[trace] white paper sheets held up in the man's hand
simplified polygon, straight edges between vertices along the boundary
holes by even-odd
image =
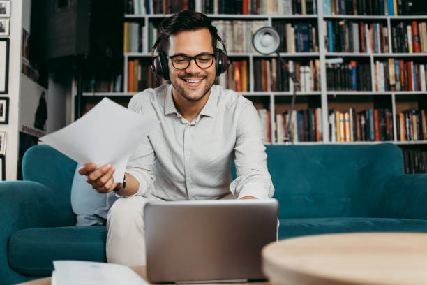
[[[81,164],[93,162],[98,168],[110,163],[114,182],[123,182],[130,154],[157,125],[157,119],[103,98],[73,124],[40,140]]]

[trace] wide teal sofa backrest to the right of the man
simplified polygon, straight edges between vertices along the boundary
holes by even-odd
[[[384,182],[403,174],[392,144],[269,145],[266,152],[280,218],[369,217]]]

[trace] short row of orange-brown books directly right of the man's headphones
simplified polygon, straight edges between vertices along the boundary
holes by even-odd
[[[216,80],[216,84],[224,89],[232,89],[236,92],[248,92],[248,61],[234,60],[225,73]]]

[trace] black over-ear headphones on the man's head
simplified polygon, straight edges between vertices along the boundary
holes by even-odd
[[[216,76],[220,75],[227,71],[230,62],[227,57],[227,50],[225,49],[225,43],[221,38],[216,35],[215,38],[223,45],[223,50],[215,47],[215,72]],[[160,43],[160,37],[157,39],[156,43],[154,43],[153,47],[151,47],[151,56],[153,57],[153,61],[151,63],[151,69],[157,75],[163,77],[165,80],[169,80],[169,66],[167,65],[167,57],[166,53],[163,50],[158,50],[158,56],[154,56],[154,51],[158,47]]]

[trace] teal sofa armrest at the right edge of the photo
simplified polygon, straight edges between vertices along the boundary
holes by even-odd
[[[427,219],[427,174],[396,175],[384,187],[384,215]]]

